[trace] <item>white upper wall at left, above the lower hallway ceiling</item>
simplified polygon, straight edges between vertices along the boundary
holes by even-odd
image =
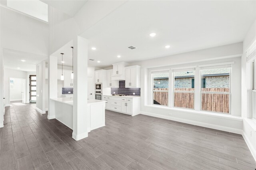
[[[1,47],[48,56],[48,24],[0,7]]]

